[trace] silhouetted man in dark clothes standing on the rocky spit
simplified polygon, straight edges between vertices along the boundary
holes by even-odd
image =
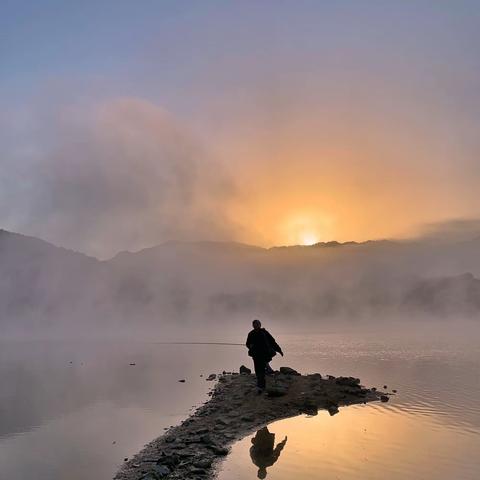
[[[283,357],[283,352],[270,333],[262,328],[260,320],[254,320],[252,326],[253,330],[248,334],[246,345],[248,354],[253,358],[258,393],[260,394],[265,390],[265,373],[268,363],[277,352]]]

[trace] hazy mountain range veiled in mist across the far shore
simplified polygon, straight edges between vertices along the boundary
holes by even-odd
[[[265,249],[170,242],[107,261],[0,230],[0,328],[46,335],[480,312],[480,240]],[[469,273],[466,273],[469,272]]]

